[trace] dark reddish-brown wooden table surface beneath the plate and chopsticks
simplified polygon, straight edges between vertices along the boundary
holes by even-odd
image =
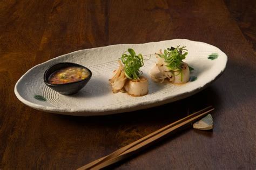
[[[0,168],[75,169],[213,105],[214,130],[186,130],[118,169],[256,168],[255,1],[1,1]],[[200,93],[103,117],[45,113],[22,104],[16,81],[59,55],[120,43],[186,38],[218,46],[226,71]]]

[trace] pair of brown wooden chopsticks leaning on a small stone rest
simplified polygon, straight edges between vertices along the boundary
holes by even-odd
[[[212,108],[212,106],[208,106],[203,110],[190,114],[183,119],[180,119],[178,121],[175,121],[172,124],[169,124],[163,128],[160,128],[159,130],[149,135],[146,135],[146,137],[143,137],[137,141],[134,141],[131,144],[126,145],[103,158],[92,161],[89,164],[84,165],[78,169],[79,170],[80,169],[101,169],[109,165],[112,165],[120,160],[130,157],[134,153],[137,153],[140,149],[148,146],[149,144],[153,144],[153,142],[156,142],[158,139],[165,137],[167,134],[170,134],[171,132],[174,133],[180,130],[180,128],[182,127],[191,125],[193,122],[204,117],[206,114],[208,114],[213,110],[214,108]]]

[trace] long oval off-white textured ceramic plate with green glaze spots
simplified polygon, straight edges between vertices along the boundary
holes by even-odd
[[[188,55],[185,62],[194,68],[191,77],[197,77],[196,80],[183,85],[154,83],[150,78],[150,70],[157,59],[152,55],[141,68],[149,79],[149,94],[131,97],[127,93],[112,93],[108,80],[113,70],[118,68],[117,59],[128,48],[142,53],[146,59],[159,49],[177,45],[186,46]],[[212,53],[217,53],[218,58],[208,59]],[[44,84],[44,71],[59,62],[81,64],[92,71],[92,78],[84,89],[72,96],[64,96]],[[223,73],[226,63],[227,56],[217,47],[187,39],[97,47],[71,52],[32,67],[17,81],[15,94],[25,105],[45,112],[83,116],[130,112],[180,100],[203,90]],[[35,95],[45,97],[46,101],[35,99]]]

